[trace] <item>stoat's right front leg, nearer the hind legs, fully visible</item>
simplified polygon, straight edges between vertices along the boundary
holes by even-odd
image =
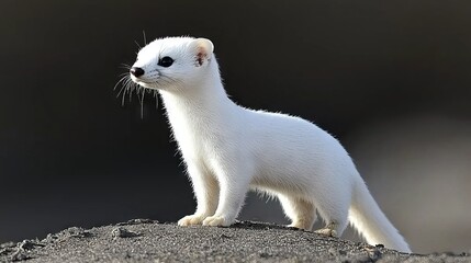
[[[203,226],[227,227],[235,222],[248,191],[250,182],[248,174],[236,174],[236,172],[231,171],[221,171],[217,173],[221,188],[217,210],[214,216],[204,219]]]

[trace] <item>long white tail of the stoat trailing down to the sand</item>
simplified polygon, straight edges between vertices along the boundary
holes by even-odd
[[[408,244],[381,211],[363,180],[358,178],[356,181],[349,210],[351,225],[370,244],[381,243],[386,248],[411,253]]]

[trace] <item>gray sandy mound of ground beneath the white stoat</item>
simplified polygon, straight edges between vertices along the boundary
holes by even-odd
[[[471,262],[469,254],[404,254],[271,224],[178,227],[134,219],[0,244],[0,262]]]

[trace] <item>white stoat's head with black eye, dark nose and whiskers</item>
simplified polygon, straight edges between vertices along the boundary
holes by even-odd
[[[143,47],[130,69],[131,79],[147,89],[178,90],[202,81],[213,57],[206,38],[166,37]]]

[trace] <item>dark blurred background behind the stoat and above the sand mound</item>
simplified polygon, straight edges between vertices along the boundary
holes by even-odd
[[[113,85],[147,39],[215,44],[237,103],[313,121],[416,252],[471,248],[471,2],[0,1],[0,242],[195,207],[159,103]],[[243,219],[287,222],[250,195]],[[348,237],[350,236],[347,233]]]

